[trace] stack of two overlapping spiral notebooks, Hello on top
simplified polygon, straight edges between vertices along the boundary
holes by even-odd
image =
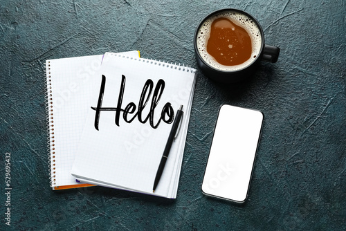
[[[100,185],[176,198],[195,70],[137,50],[46,61],[51,187]],[[154,179],[177,109],[183,117]]]

